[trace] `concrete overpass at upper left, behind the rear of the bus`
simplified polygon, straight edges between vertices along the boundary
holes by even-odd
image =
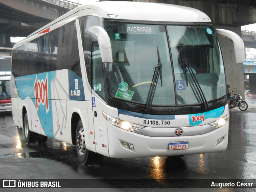
[[[10,36],[28,36],[78,4],[68,0],[0,0],[0,47],[10,47]]]

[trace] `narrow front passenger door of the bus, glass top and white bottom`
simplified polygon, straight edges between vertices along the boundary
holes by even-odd
[[[94,121],[94,138],[96,152],[105,156],[108,154],[107,121],[102,115],[106,112],[104,69],[98,43],[92,47],[92,113]]]

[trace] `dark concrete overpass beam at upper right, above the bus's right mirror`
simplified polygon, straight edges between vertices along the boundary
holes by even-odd
[[[207,14],[215,25],[243,26],[256,23],[256,2],[244,0],[134,0],[159,2],[196,8]],[[254,2],[254,3],[253,3]],[[254,6],[253,6],[254,5]]]

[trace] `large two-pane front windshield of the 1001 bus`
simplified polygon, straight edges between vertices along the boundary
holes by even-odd
[[[152,105],[202,103],[198,87],[207,101],[226,94],[222,55],[211,25],[106,22],[105,29],[112,45],[108,72],[113,98],[146,104],[159,58],[161,80]]]

